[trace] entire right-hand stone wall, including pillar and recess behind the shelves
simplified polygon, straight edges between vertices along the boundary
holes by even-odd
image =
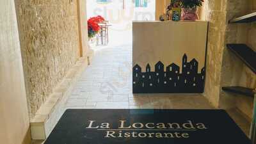
[[[243,43],[255,49],[255,23],[228,24],[234,17],[255,12],[255,3],[255,0],[208,0],[204,7],[205,19],[209,20],[205,97],[216,108],[238,108],[248,117],[252,117],[252,99],[223,92],[221,87],[256,88],[255,74],[226,47]]]

